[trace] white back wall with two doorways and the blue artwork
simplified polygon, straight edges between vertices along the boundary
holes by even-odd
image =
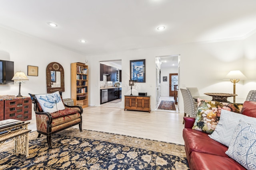
[[[130,87],[128,86],[130,60],[146,59],[146,83],[137,83],[132,93],[148,92],[148,95],[152,96],[152,110],[155,109],[156,56],[180,55],[180,87],[198,87],[202,95],[206,92],[233,93],[233,84],[229,80],[223,80],[223,78],[230,70],[244,72],[247,69],[244,65],[244,41],[252,44],[255,39],[256,37],[253,36],[252,40],[248,42],[237,40],[217,43],[191,43],[88,56],[90,64],[94,66],[91,70],[94,75],[90,79],[91,90],[94,94],[90,94],[90,105],[98,106],[100,104],[99,61],[106,59],[122,59],[122,97],[130,94]],[[256,62],[256,59],[253,61]],[[255,67],[251,67],[251,69],[256,71]],[[246,72],[244,73],[246,74]],[[252,83],[255,82],[255,79],[248,81]],[[243,80],[236,84],[238,98],[246,98],[249,90],[244,88]],[[178,95],[180,111],[183,112],[182,96],[180,93]],[[124,102],[122,102],[122,107],[124,108]]]

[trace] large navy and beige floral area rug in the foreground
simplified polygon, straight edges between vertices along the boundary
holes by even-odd
[[[13,142],[0,148],[5,170],[189,170],[183,145],[69,128],[52,136],[29,133],[29,156],[16,154]]]

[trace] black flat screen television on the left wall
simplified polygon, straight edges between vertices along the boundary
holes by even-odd
[[[0,84],[14,84],[14,62],[0,60]]]

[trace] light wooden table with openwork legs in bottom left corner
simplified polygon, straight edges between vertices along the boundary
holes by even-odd
[[[13,139],[15,152],[28,156],[28,133],[31,131],[28,123],[14,119],[0,121],[0,147],[5,141]]]

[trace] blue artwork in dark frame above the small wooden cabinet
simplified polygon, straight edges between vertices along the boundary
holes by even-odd
[[[146,59],[130,61],[130,80],[146,82]]]

